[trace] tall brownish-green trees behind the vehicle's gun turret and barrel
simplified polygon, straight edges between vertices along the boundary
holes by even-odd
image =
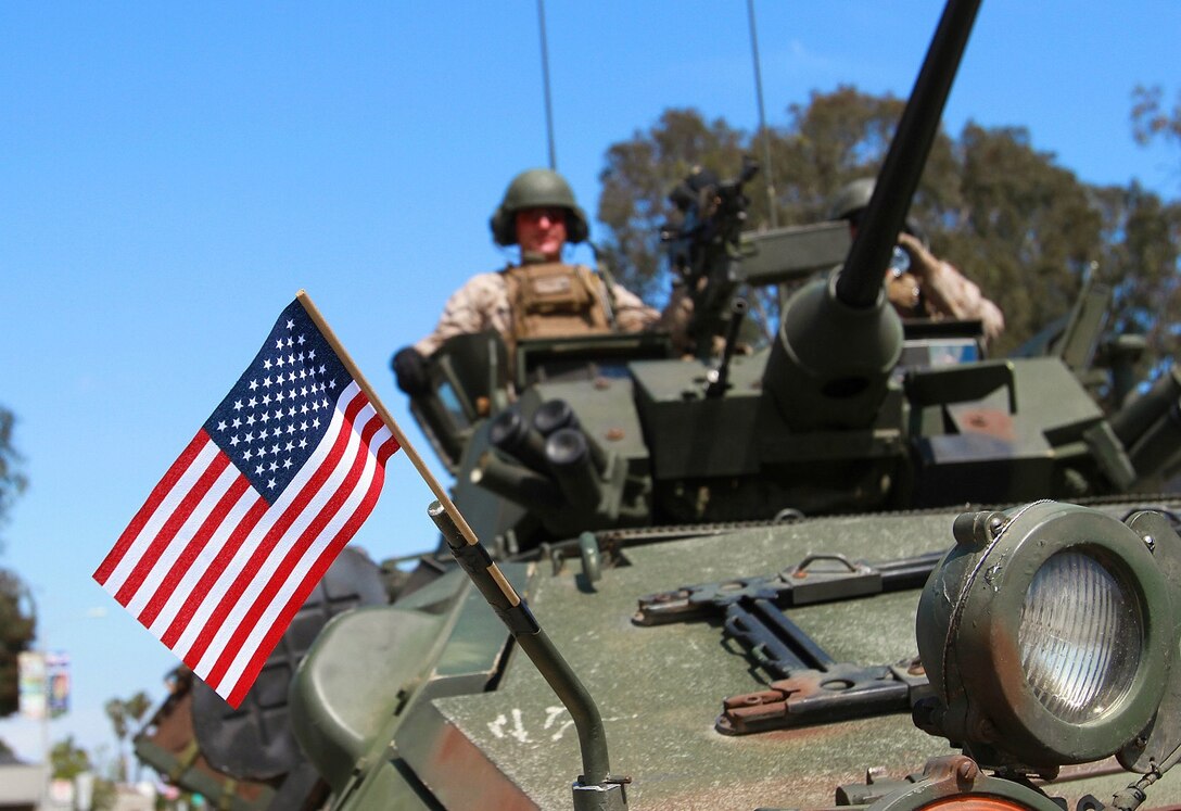
[[[774,177],[764,166],[746,187],[746,228],[770,222],[768,183],[779,225],[827,220],[842,185],[876,175],[902,109],[900,99],[842,86],[814,92],[807,105],[789,107],[785,125],[755,136],[723,119],[706,122],[694,110],[665,111],[647,131],[607,151],[598,215],[607,225],[603,253],[611,267],[620,281],[659,302],[668,282],[658,229],[673,218],[666,195],[693,165],[737,176],[744,153],[762,158],[763,137],[770,138]],[[1169,120],[1181,126],[1176,111]],[[1035,150],[1023,127],[968,123],[954,139],[937,136],[909,215],[934,253],[1005,313],[994,354],[1068,313],[1094,273],[1114,290],[1113,334],[1147,334],[1147,369],[1176,353],[1181,332],[1177,321],[1161,318],[1181,313],[1177,208],[1135,184],[1083,183],[1053,155]]]

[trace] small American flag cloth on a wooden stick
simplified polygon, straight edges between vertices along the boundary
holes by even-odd
[[[397,450],[296,299],[94,580],[237,707]]]

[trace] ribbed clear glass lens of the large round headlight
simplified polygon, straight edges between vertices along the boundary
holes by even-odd
[[[1140,602],[1091,555],[1057,552],[1025,595],[1018,649],[1046,709],[1070,724],[1097,718],[1123,698],[1140,666]]]

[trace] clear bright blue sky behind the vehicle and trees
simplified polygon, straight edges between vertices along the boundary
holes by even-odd
[[[31,479],[0,565],[32,586],[40,642],[73,659],[74,708],[52,739],[111,746],[103,702],[162,695],[172,655],[90,575],[298,289],[433,463],[389,358],[507,259],[488,216],[548,155],[536,8],[0,5],[0,404]],[[783,124],[813,90],[906,96],[941,5],[755,9],[768,119]],[[664,109],[756,126],[742,0],[546,13],[557,164],[589,212],[608,145]],[[1128,116],[1137,84],[1172,100],[1179,32],[1176,0],[985,2],[945,126],[1023,125],[1084,181],[1175,198],[1181,156],[1137,146]],[[354,544],[426,549],[430,499],[394,457]],[[2,720],[0,738],[39,757],[35,724]]]

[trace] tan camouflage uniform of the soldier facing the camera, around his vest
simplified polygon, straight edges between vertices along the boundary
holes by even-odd
[[[575,267],[581,268],[580,274],[592,273],[589,268],[583,266]],[[522,272],[528,270],[529,266],[509,266],[504,270],[482,273],[469,279],[448,299],[435,331],[415,344],[415,348],[423,355],[430,355],[452,335],[476,333],[488,328],[496,329],[504,339],[505,346],[513,347],[516,339],[524,338],[524,335],[517,334],[518,320],[510,301],[508,274],[522,274]],[[602,279],[596,275],[594,283],[598,287],[596,295],[602,302],[607,288]],[[612,284],[611,292],[611,301],[607,303],[614,312],[615,327],[619,332],[640,332],[660,318],[655,309],[645,305],[634,293],[624,287]],[[570,334],[590,332],[606,332],[606,329],[588,327],[572,331]]]

